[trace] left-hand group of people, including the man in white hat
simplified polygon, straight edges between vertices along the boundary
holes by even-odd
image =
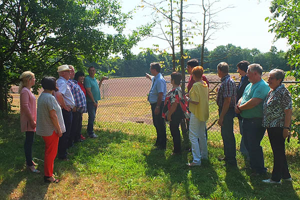
[[[72,65],[58,66],[59,78],[44,76],[41,79],[43,92],[38,96],[37,105],[31,87],[35,77],[31,71],[23,72],[19,79],[20,123],[21,131],[25,132],[24,152],[27,167],[38,173],[32,161],[32,143],[34,132],[42,136],[45,143],[44,181],[59,180],[53,175],[53,163],[57,157],[68,160],[67,149],[73,143],[85,139],[81,134],[82,113],[88,112],[87,133],[91,138],[97,137],[93,132],[97,101],[100,100],[99,87],[106,77],[99,82],[95,78],[95,68],[88,67],[88,75],[82,71],[75,73]]]

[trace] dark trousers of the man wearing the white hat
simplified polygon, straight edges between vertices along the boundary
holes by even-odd
[[[67,111],[65,109],[61,109],[62,117],[65,126],[65,132],[62,133],[62,136],[59,137],[58,141],[58,149],[57,154],[59,159],[66,158],[66,149],[68,147],[68,138],[71,131],[71,124],[72,124],[72,110]]]

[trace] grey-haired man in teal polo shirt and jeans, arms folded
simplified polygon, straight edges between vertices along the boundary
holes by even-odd
[[[262,67],[259,64],[250,64],[247,69],[249,84],[245,87],[241,98],[235,106],[235,112],[240,113],[244,144],[249,152],[250,167],[253,174],[264,174],[263,152],[260,141],[265,128],[262,127],[263,101],[270,90],[268,84],[261,79]]]

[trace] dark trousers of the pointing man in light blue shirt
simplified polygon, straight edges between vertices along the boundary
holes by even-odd
[[[166,147],[166,133],[165,133],[165,121],[164,118],[162,118],[162,108],[163,108],[164,101],[161,101],[159,106],[159,113],[156,115],[154,113],[156,103],[151,103],[151,110],[152,110],[152,119],[153,119],[153,125],[156,129],[156,142],[155,144],[159,148],[165,148]]]

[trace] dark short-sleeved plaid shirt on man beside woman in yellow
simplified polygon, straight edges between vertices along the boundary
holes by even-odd
[[[235,106],[236,85],[230,75],[227,74],[221,78],[221,85],[217,90],[216,104],[219,107],[223,106],[224,98],[231,97],[229,107]]]

